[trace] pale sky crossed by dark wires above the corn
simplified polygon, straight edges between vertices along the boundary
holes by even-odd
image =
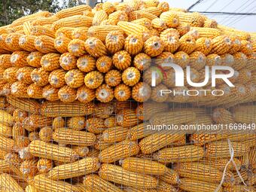
[[[108,0],[118,2],[120,0]],[[171,7],[187,9],[197,0],[160,0],[168,2]],[[62,3],[62,0],[59,0]],[[83,1],[85,2],[85,0]],[[98,0],[100,2],[100,0]],[[103,0],[105,2],[105,0]],[[256,13],[256,0],[203,0],[190,11],[221,11],[235,13]],[[256,15],[233,16],[233,15],[207,15],[224,26],[230,26],[247,32],[256,32]]]

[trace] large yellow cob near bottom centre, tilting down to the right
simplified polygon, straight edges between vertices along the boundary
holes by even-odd
[[[111,164],[102,164],[99,169],[99,176],[108,181],[125,184],[130,187],[154,188],[158,184],[157,178],[126,171],[120,166]]]

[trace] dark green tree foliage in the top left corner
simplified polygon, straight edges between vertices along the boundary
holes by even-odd
[[[2,0],[0,1],[0,26],[5,26],[25,15],[38,11],[56,13],[61,8],[58,0]]]

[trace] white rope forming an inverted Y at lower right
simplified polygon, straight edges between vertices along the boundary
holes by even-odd
[[[234,150],[233,150],[233,147],[232,147],[232,144],[230,142],[230,139],[227,139],[227,143],[228,143],[228,147],[229,147],[229,150],[230,150],[230,160],[227,162],[226,166],[225,166],[225,169],[224,169],[224,172],[223,172],[223,175],[222,175],[222,178],[221,178],[221,183],[218,185],[218,187],[215,189],[215,192],[218,192],[220,189],[221,189],[221,186],[222,184],[224,183],[224,179],[225,179],[225,175],[226,175],[226,171],[227,171],[227,166],[232,162],[233,163],[233,166],[235,166],[236,168],[236,172],[237,172],[237,175],[239,176],[239,178],[241,179],[242,183],[247,186],[245,184],[245,181],[243,180],[242,178],[242,175],[241,173],[239,172],[239,169],[237,168],[236,166],[236,163],[235,161],[233,160],[233,156],[234,156]],[[247,189],[244,189],[245,191],[248,191]]]

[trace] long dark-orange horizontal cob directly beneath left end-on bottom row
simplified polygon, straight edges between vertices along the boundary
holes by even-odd
[[[41,114],[47,117],[76,117],[93,113],[93,107],[93,103],[44,102],[41,105]]]

